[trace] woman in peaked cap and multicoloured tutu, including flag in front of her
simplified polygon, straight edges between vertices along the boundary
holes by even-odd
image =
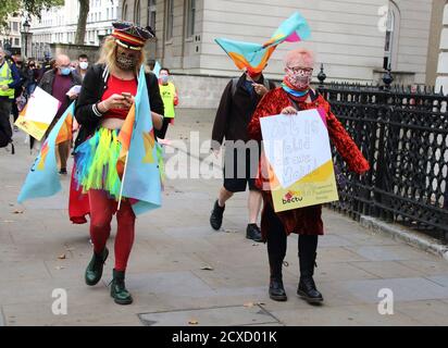
[[[99,62],[86,73],[75,109],[80,128],[69,210],[74,223],[87,222],[85,215],[90,214],[94,256],[85,272],[89,286],[101,278],[116,213],[111,296],[116,303],[128,304],[133,298],[124,278],[136,213],[160,206],[160,172],[154,160],[160,152],[152,125],[162,127],[164,108],[158,79],[144,66],[142,48],[154,37],[152,29],[125,22],[115,22]]]

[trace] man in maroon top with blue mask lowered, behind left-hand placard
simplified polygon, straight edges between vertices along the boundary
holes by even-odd
[[[51,128],[55,125],[58,120],[62,116],[65,109],[69,108],[73,99],[77,98],[77,95],[67,96],[69,90],[75,86],[80,85],[82,80],[77,74],[74,74],[70,67],[70,59],[65,54],[59,54],[55,59],[54,69],[46,72],[39,83],[39,87],[46,92],[57,98],[61,105],[58,113],[47,130],[47,135],[51,132]],[[66,162],[69,158],[70,140],[58,145],[59,157],[61,159],[60,174],[67,174]]]

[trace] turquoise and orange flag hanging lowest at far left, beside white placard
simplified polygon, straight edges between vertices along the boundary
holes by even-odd
[[[73,117],[74,108],[75,102],[72,102],[45,140],[22,186],[17,198],[18,203],[30,198],[49,197],[61,190],[55,159],[55,145],[65,140],[65,137],[71,136],[67,134],[64,123],[67,117]]]

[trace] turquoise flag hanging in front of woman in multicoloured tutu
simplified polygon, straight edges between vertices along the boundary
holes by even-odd
[[[129,112],[127,117],[130,119],[126,121],[130,121],[133,116]],[[122,132],[126,130],[126,121]],[[132,134],[128,146],[125,144],[126,134]],[[133,129],[132,132],[123,132],[123,137],[119,135],[119,140],[122,141],[122,152],[128,149],[122,183],[122,196],[130,199],[135,214],[159,208],[162,203],[162,159],[160,145],[154,137],[144,67],[140,69],[138,76]],[[123,153],[120,157],[123,158]]]

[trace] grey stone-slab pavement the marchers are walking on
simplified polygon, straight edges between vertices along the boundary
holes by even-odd
[[[181,110],[167,137],[189,142],[195,130],[202,141],[212,120],[211,110]],[[57,196],[16,203],[36,153],[22,133],[14,138],[15,156],[0,149],[0,326],[448,325],[446,260],[326,209],[315,270],[324,303],[296,296],[296,236],[284,269],[288,301],[272,301],[266,247],[245,238],[247,194],[228,201],[222,231],[209,225],[219,178],[171,178],[163,207],[137,219],[126,276],[134,303],[117,306],[108,289],[113,252],[102,281],[84,284],[92,248],[88,225],[69,222],[69,177]],[[169,148],[167,158],[187,156]]]

